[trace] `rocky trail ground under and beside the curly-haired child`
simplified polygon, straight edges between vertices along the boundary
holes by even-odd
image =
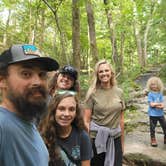
[[[144,88],[145,82],[151,75],[154,75],[154,72],[148,76],[147,74],[145,74],[145,77],[142,76],[138,83],[141,83]],[[128,117],[125,118],[125,126],[128,132],[125,135],[123,166],[166,166],[166,145],[163,143],[162,129],[158,124],[156,128],[158,147],[151,147],[147,96],[138,96],[132,99],[132,105],[137,109],[131,114],[128,113]],[[164,98],[166,108],[166,96]]]

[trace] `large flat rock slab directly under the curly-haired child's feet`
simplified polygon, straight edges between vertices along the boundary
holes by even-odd
[[[163,134],[156,134],[158,147],[151,147],[148,132],[133,131],[125,137],[124,159],[134,163],[160,163],[166,166],[166,145],[163,143]],[[140,156],[142,156],[140,158]],[[143,165],[143,164],[142,164]],[[146,164],[151,166],[151,164]],[[130,166],[130,165],[129,165]],[[157,165],[155,165],[157,166]]]

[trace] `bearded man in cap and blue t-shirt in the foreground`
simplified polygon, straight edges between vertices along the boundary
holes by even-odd
[[[47,71],[58,68],[34,45],[13,45],[0,55],[0,165],[48,165],[34,122],[47,109]]]

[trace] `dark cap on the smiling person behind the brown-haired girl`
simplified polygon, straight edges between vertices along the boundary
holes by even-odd
[[[71,66],[71,65],[65,65],[59,70],[59,73],[62,74],[68,74],[70,77],[74,78],[74,80],[77,80],[78,72],[77,70]]]

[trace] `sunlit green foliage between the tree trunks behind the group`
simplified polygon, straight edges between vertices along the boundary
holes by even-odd
[[[34,44],[46,54],[56,58],[61,64],[66,63],[67,59],[72,63],[72,1],[50,0],[47,2],[54,11],[57,11],[60,30],[54,13],[43,1],[0,1],[0,52],[13,43],[32,42],[30,39],[34,37]],[[103,1],[91,0],[91,3],[94,11],[98,58],[108,59],[112,63],[111,30],[113,30],[117,54],[123,56],[123,66],[121,67],[124,74],[121,76],[120,83],[126,81],[124,87],[127,88],[129,83],[129,86],[137,88],[131,82],[139,73],[144,72],[144,69],[139,66],[134,24],[137,23],[139,37],[143,41],[146,24],[151,17],[147,36],[147,65],[164,63],[166,61],[166,12],[164,12],[166,2],[164,0],[109,0],[108,4],[105,5]],[[81,70],[85,70],[94,68],[90,52],[86,1],[80,0],[78,7],[80,9],[80,64]],[[106,9],[109,10],[112,27],[108,25]],[[153,9],[155,10],[151,15]],[[7,18],[7,11],[11,11],[9,18]],[[9,19],[8,25],[7,19]],[[5,32],[7,33],[6,43],[4,43]],[[61,34],[64,37],[66,55],[62,55]]]

